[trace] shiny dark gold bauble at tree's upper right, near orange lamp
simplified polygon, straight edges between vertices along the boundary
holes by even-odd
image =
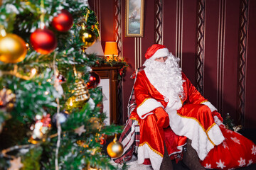
[[[82,29],[80,30],[79,35],[82,42],[85,43],[84,45],[82,45],[82,50],[85,50],[87,49],[87,47],[92,46],[96,41],[96,36],[92,32],[92,30],[87,29],[84,26],[82,26]]]

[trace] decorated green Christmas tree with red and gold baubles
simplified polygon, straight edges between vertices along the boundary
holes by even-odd
[[[87,1],[5,0],[0,6],[0,169],[116,169]],[[118,153],[117,153],[118,154]]]

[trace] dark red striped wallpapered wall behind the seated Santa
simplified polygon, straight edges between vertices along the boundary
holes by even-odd
[[[123,81],[123,121],[127,119],[127,102],[132,90],[133,80],[129,76],[134,69],[144,62],[146,49],[156,42],[156,1],[144,0],[144,37],[130,38],[124,36],[125,28],[125,1],[124,0],[90,0],[90,7],[97,14],[100,13],[100,27],[102,46],[105,41],[115,40],[114,12],[117,1],[121,8],[122,28],[122,54],[131,65]],[[230,113],[236,124],[245,128],[256,128],[256,1],[252,0],[162,0],[162,26],[163,44],[177,55],[181,52],[181,67],[183,72],[196,86],[197,67],[197,27],[198,27],[198,3],[205,3],[204,21],[204,56],[203,56],[203,95],[213,103],[223,115]],[[241,18],[242,4],[248,15]],[[181,16],[178,16],[181,13]],[[242,21],[247,27],[242,27]],[[178,23],[181,22],[181,23]],[[242,27],[242,28],[241,28]],[[178,29],[178,30],[177,30]],[[241,38],[241,33],[244,34]],[[242,40],[246,41],[242,41]],[[137,43],[141,42],[141,44]],[[241,54],[240,45],[245,45]],[[181,45],[179,51],[177,45]],[[141,55],[135,55],[142,50]],[[245,60],[245,71],[242,73],[240,58]],[[137,63],[137,59],[142,63]],[[240,74],[240,75],[239,75]],[[242,87],[242,89],[241,89]],[[241,101],[241,93],[244,99]],[[243,110],[240,109],[242,104]]]

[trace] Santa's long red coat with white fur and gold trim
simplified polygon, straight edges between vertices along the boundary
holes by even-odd
[[[134,84],[137,108],[130,118],[139,121],[139,164],[144,159],[150,159],[153,169],[159,169],[164,154],[164,141],[169,155],[173,155],[182,151],[188,137],[201,160],[206,158],[213,147],[223,142],[223,133],[219,127],[222,122],[220,114],[201,96],[185,74],[182,74],[182,78],[183,98],[180,101],[169,101],[169,98],[154,88],[144,71],[137,74]],[[167,128],[169,125],[171,130]],[[209,159],[202,164],[208,166]]]

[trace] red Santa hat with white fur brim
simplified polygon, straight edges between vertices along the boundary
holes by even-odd
[[[146,50],[146,59],[155,60],[159,57],[166,57],[169,55],[169,50],[164,45],[154,44]]]

